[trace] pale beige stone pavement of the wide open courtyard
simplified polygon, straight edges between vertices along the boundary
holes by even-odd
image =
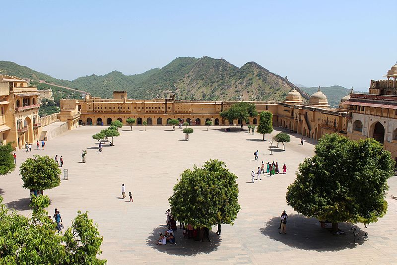
[[[64,156],[69,180],[55,189],[45,191],[52,201],[48,211],[61,211],[64,225],[70,226],[77,210],[89,211],[103,236],[101,258],[109,264],[397,264],[397,178],[389,181],[389,211],[377,223],[365,228],[362,224],[340,224],[346,235],[333,236],[322,229],[318,220],[305,218],[285,201],[287,186],[293,182],[299,162],[314,154],[314,141],[299,145],[300,136],[291,134],[286,151],[274,149],[261,134],[241,132],[234,127],[225,133],[220,127],[194,127],[190,140],[179,129],[168,126],[134,126],[119,129],[115,146],[104,145],[97,152],[97,141],[91,135],[105,127],[86,126],[47,142],[45,150],[17,152],[19,166],[34,154]],[[223,127],[224,128],[224,127]],[[274,131],[273,134],[277,133]],[[266,138],[270,138],[266,135]],[[87,149],[87,163],[80,163]],[[254,151],[259,160],[254,161]],[[224,161],[238,176],[241,211],[233,226],[223,225],[222,235],[214,231],[211,242],[194,242],[176,233],[177,244],[154,244],[159,232],[165,231],[168,198],[183,170],[216,158]],[[251,181],[261,161],[287,164],[286,175],[262,181]],[[22,214],[31,213],[29,191],[22,188],[19,169],[0,178],[0,195],[8,207]],[[134,202],[121,199],[121,184],[127,195],[132,191]],[[287,234],[278,234],[279,215],[289,214]],[[178,226],[179,228],[179,226]],[[351,228],[355,228],[353,231]],[[364,236],[365,232],[368,237]]]

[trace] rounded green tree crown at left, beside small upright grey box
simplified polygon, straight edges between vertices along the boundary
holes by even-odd
[[[54,159],[48,155],[35,155],[28,158],[19,167],[23,188],[43,191],[58,187],[61,184],[61,170]]]

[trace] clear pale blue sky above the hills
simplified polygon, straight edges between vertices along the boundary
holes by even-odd
[[[0,0],[0,60],[71,80],[223,57],[306,86],[366,91],[397,61],[396,3]]]

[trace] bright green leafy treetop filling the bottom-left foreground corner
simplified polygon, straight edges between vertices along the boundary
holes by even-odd
[[[10,212],[2,201],[0,196],[0,264],[106,264],[96,258],[103,239],[86,214],[77,212],[62,236],[45,210],[48,196],[32,198],[32,217]]]

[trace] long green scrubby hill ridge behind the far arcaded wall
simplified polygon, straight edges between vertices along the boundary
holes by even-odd
[[[0,70],[32,82],[45,80],[103,98],[112,97],[114,90],[126,90],[130,98],[136,99],[161,98],[175,93],[177,99],[186,100],[282,100],[291,90],[283,77],[255,62],[239,68],[223,59],[210,57],[180,57],[162,68],[141,74],[124,75],[112,71],[73,81],[56,79],[12,62],[0,61]]]

